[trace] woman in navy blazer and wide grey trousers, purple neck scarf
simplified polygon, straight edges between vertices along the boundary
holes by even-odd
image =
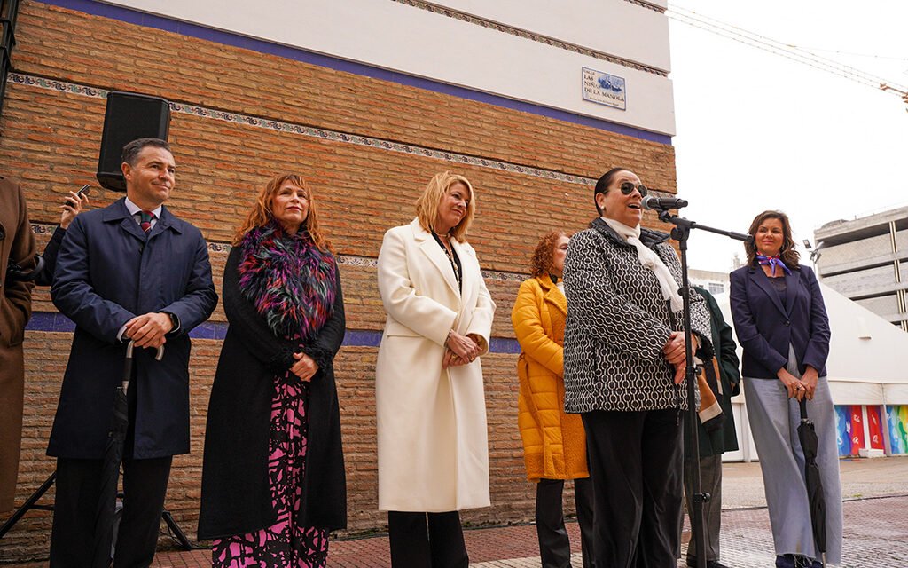
[[[747,414],[773,527],[777,567],[818,566],[798,440],[799,402],[816,426],[826,502],[826,560],[842,556],[842,491],[833,400],[826,381],[829,319],[814,271],[798,264],[788,217],[758,214],[747,265],[731,274],[735,334],[744,347]]]

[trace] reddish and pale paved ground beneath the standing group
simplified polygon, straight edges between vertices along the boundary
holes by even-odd
[[[908,457],[845,460],[843,568],[908,568]],[[722,562],[731,568],[772,568],[775,563],[762,477],[756,463],[726,463],[723,483]],[[582,566],[577,523],[568,523],[573,566]],[[465,531],[473,568],[538,568],[536,527],[517,524]],[[687,527],[682,541],[689,538]],[[686,545],[683,547],[686,548]],[[683,556],[683,551],[682,551]],[[211,551],[159,552],[155,568],[211,565]],[[683,563],[679,563],[683,566]],[[5,564],[39,568],[46,563]],[[387,568],[388,537],[331,542],[328,568]]]

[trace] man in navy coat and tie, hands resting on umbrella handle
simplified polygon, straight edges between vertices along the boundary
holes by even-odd
[[[188,334],[218,300],[202,234],[163,207],[176,171],[170,147],[156,138],[126,144],[122,169],[126,197],[75,218],[51,288],[54,305],[76,325],[47,447],[57,458],[54,568],[92,557],[104,447],[130,339],[136,349],[114,566],[152,562],[173,455],[189,452]]]

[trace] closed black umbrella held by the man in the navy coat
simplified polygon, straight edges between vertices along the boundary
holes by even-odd
[[[94,562],[95,568],[110,568],[111,545],[114,540],[114,518],[116,517],[117,484],[120,481],[120,463],[123,462],[123,443],[129,427],[129,403],[126,393],[133,378],[133,341],[126,345],[126,359],[123,363],[123,384],[116,387],[114,417],[104,448],[104,467],[101,470],[101,493],[94,515]],[[155,355],[157,361],[164,356],[163,345]]]

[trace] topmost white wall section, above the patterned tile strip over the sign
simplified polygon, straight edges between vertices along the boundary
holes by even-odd
[[[668,18],[625,0],[433,0],[529,32],[665,71]]]

